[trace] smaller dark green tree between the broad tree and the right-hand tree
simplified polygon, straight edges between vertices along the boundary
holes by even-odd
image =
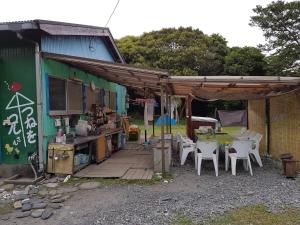
[[[224,71],[228,75],[265,75],[266,61],[261,51],[254,47],[233,47],[225,57]]]

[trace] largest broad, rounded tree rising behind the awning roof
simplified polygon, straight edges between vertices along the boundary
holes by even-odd
[[[167,28],[117,41],[129,64],[166,69],[173,75],[218,75],[224,70],[227,42],[191,27]]]

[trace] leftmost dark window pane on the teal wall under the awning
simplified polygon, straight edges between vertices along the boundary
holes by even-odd
[[[50,115],[65,114],[66,111],[66,80],[49,76]]]

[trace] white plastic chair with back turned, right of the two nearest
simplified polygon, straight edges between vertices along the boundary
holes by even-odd
[[[231,172],[232,175],[236,175],[236,161],[238,159],[244,160],[244,163],[249,167],[250,174],[253,176],[252,173],[252,166],[250,161],[250,151],[252,149],[252,141],[233,141],[231,148],[234,148],[236,153],[229,153],[229,157],[231,160]],[[245,164],[244,164],[245,165]]]

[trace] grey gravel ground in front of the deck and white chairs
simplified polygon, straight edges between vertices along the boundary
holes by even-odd
[[[201,176],[196,175],[192,164],[172,167],[174,180],[169,183],[80,190],[48,220],[11,216],[0,224],[161,225],[169,224],[179,212],[203,223],[230,209],[253,204],[265,204],[270,211],[283,205],[300,208],[300,179],[282,177],[271,161],[265,160],[263,168],[254,165],[253,177],[241,168],[232,176],[222,166],[219,177],[215,177],[210,163],[204,166]]]

